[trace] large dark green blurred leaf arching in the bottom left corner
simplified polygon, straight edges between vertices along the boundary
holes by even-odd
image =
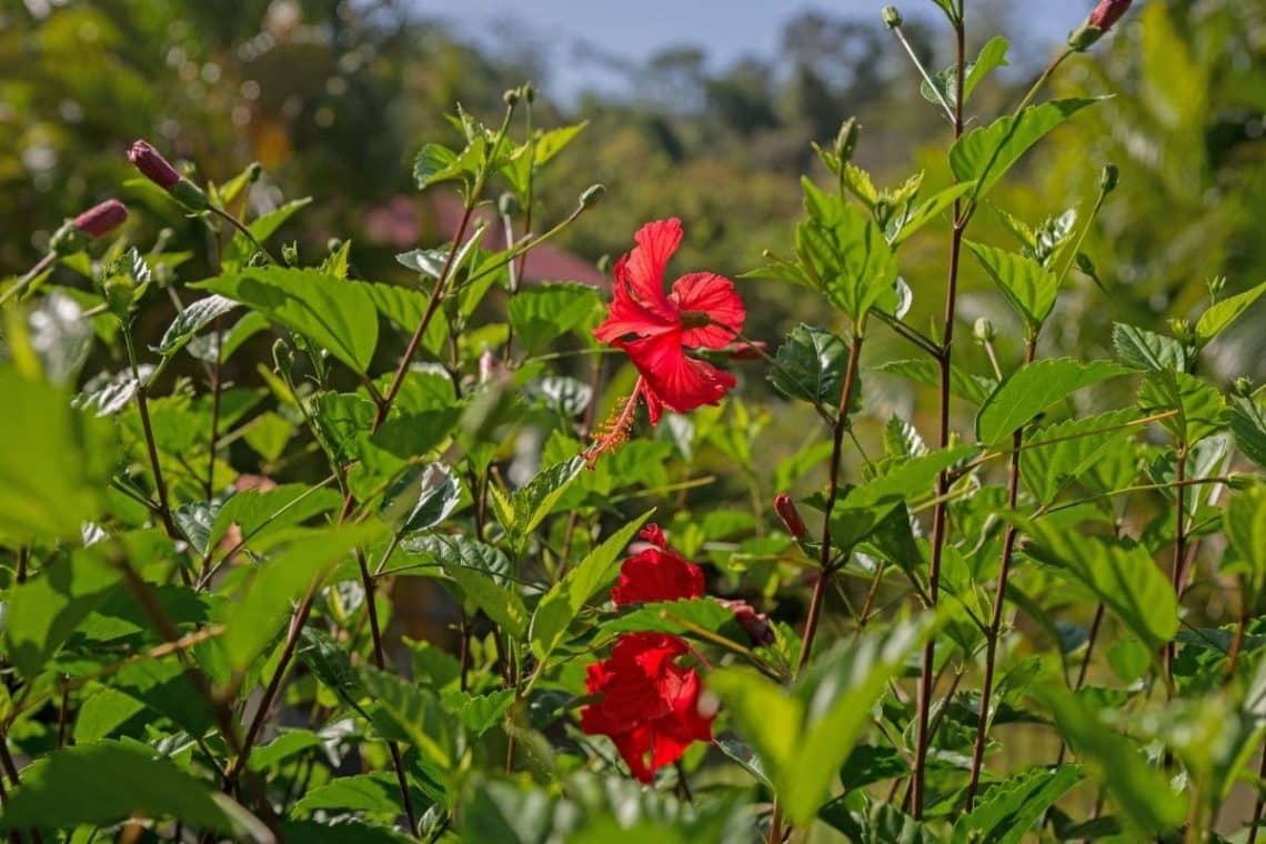
[[[0,829],[106,826],[142,816],[230,833],[227,806],[233,806],[228,797],[170,760],[100,742],[56,750],[28,766],[22,786],[5,801]]]

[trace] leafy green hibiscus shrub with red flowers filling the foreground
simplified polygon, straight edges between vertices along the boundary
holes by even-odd
[[[137,142],[132,216],[0,287],[10,840],[1255,840],[1266,404],[1201,352],[1266,286],[1060,357],[1065,297],[1113,307],[1081,247],[1117,173],[1046,221],[990,195],[1095,106],[1046,84],[1129,3],[994,119],[1006,44],[936,5],[944,185],[876,189],[849,120],[738,283],[667,282],[677,219],[609,295],[527,283],[603,197],[542,190],[582,127],[528,86],[422,148],[462,214],[395,283],[280,242],[306,200],[261,213],[257,166]],[[1014,333],[967,334],[970,273]],[[751,337],[785,282],[822,324]]]

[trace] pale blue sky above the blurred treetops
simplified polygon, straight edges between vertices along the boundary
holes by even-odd
[[[1091,0],[1022,3],[1032,9],[1034,29],[1052,39],[1062,38],[1091,5]],[[563,99],[587,85],[606,84],[592,76],[592,63],[577,61],[573,47],[581,42],[632,61],[663,47],[698,44],[718,67],[744,54],[774,54],[782,23],[799,11],[877,16],[881,5],[880,0],[413,0],[418,14],[444,19],[463,34],[509,32],[517,43],[547,51],[551,92]],[[908,14],[936,11],[929,0],[905,0],[901,8]]]

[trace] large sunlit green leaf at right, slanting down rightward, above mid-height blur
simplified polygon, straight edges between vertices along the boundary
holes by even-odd
[[[1094,592],[1153,653],[1174,639],[1179,629],[1177,597],[1147,548],[1084,535],[1050,519],[1004,518],[1028,535],[1024,553]]]

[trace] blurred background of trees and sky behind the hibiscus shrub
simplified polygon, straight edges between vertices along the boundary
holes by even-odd
[[[141,242],[161,227],[192,235],[125,185],[134,175],[123,151],[147,137],[209,178],[260,161],[256,211],[284,196],[315,200],[284,239],[319,251],[351,237],[361,275],[399,276],[396,252],[446,234],[446,189],[422,197],[411,183],[417,149],[453,140],[444,115],[456,102],[495,120],[501,92],[533,80],[541,124],[589,120],[542,186],[543,223],[586,185],[609,189],[568,230],[570,253],[587,268],[627,249],[642,221],[675,214],[687,229],[680,267],[737,275],[762,249],[786,248],[798,176],[822,175],[810,142],[828,140],[848,115],[863,125],[858,161],[877,182],[917,170],[931,186],[947,182],[936,149],[948,129],[919,97],[879,5],[0,0],[0,273],[27,268],[65,216],[108,195],[143,209],[130,224]],[[948,63],[933,5],[905,5],[915,49]],[[975,46],[996,34],[1013,43],[1010,67],[974,102],[977,123],[1014,101],[1090,5],[971,0]],[[1108,353],[1114,320],[1163,328],[1189,315],[1210,278],[1225,276],[1234,292],[1266,277],[1266,0],[1134,5],[1055,85],[1114,97],[1031,156],[996,196],[1036,224],[1087,205],[1104,163],[1122,170],[1086,245],[1108,296],[1077,280],[1044,339],[1065,353]],[[975,237],[1004,242],[991,227],[996,216],[982,214]],[[917,323],[939,309],[942,239],[932,227],[905,252]],[[1005,329],[979,270],[966,273],[963,320],[987,314]],[[803,291],[743,283],[758,302],[757,337],[818,315]],[[1206,364],[1260,380],[1262,328],[1257,310]]]

